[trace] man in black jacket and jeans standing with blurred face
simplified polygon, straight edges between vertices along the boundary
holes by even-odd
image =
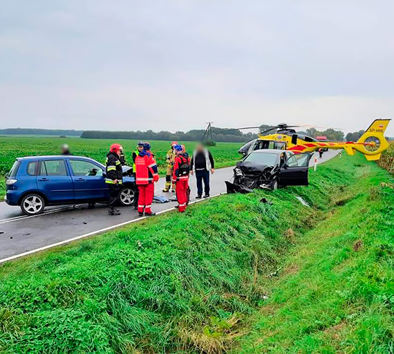
[[[209,172],[214,174],[215,163],[210,151],[202,144],[198,144],[194,150],[193,157],[190,162],[190,173],[196,173],[197,181],[197,196],[199,199],[203,196],[203,181],[204,181],[204,198],[209,197]]]

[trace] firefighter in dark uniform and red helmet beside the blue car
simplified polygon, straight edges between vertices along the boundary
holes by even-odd
[[[113,144],[106,156],[105,183],[109,185],[109,215],[120,215],[120,211],[115,208],[115,203],[118,201],[119,185],[122,185],[123,171],[120,162],[122,151],[122,145]]]

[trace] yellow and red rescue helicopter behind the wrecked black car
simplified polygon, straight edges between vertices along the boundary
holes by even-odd
[[[260,149],[282,149],[292,151],[296,154],[312,153],[320,148],[344,149],[349,155],[354,155],[355,151],[359,151],[367,160],[379,160],[382,152],[389,147],[386,138],[384,138],[384,132],[390,120],[391,119],[374,120],[357,142],[319,141],[310,136],[297,133],[297,131],[294,130],[294,128],[302,126],[281,123],[259,133],[259,138],[247,142],[238,150],[238,153],[246,156],[248,153]],[[256,128],[259,127],[244,127],[238,128],[237,130]]]

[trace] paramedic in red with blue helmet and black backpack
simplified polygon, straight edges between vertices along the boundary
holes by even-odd
[[[174,147],[176,158],[173,165],[173,180],[176,181],[176,198],[178,199],[179,212],[185,212],[187,206],[187,192],[189,189],[190,158],[185,152],[185,147]]]

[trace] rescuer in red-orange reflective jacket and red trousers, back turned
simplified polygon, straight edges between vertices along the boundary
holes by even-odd
[[[135,158],[135,183],[138,185],[138,214],[140,216],[156,215],[152,212],[154,183],[159,180],[158,165],[153,158],[151,145],[144,143],[144,149]]]

